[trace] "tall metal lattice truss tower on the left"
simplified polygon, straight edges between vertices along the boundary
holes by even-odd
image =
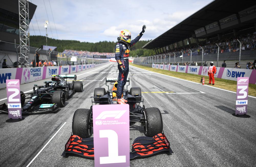
[[[19,41],[20,41],[20,64],[29,64],[29,12],[28,1],[19,0]]]

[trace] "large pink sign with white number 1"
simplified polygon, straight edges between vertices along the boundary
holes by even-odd
[[[130,166],[129,105],[93,105],[94,164]]]

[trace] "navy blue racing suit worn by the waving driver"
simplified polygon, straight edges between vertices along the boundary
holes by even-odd
[[[129,52],[130,47],[133,46],[136,42],[140,40],[142,37],[142,33],[140,33],[135,39],[131,41],[130,44],[124,41],[118,41],[115,46],[115,59],[118,63],[118,84],[117,84],[117,93],[116,96],[118,99],[122,98],[122,94],[124,91],[124,86],[126,84],[126,79],[129,73]]]

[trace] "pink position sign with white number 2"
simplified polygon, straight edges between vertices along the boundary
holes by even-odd
[[[22,119],[19,85],[18,79],[6,80],[8,117],[10,119]]]

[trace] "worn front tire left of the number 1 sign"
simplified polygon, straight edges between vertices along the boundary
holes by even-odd
[[[89,109],[77,109],[73,115],[72,133],[81,138],[91,136],[92,127],[90,126],[90,119],[92,118],[92,111]]]

